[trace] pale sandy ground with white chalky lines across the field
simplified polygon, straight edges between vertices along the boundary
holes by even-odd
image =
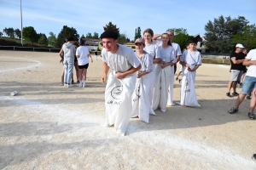
[[[236,100],[225,96],[228,66],[197,71],[201,108],[174,105],[148,124],[131,119],[123,137],[100,125],[102,60],[90,63],[86,88],[61,87],[58,62],[55,53],[0,51],[0,169],[256,169],[249,100],[227,113]]]

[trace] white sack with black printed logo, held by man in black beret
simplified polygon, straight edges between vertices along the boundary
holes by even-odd
[[[131,117],[131,94],[134,91],[137,74],[133,73],[122,79],[115,77],[112,71],[108,75],[105,91],[106,122],[105,126],[112,126],[117,133],[125,135]]]

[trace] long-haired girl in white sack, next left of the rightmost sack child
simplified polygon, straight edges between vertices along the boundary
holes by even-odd
[[[161,39],[162,45],[158,48],[160,51],[160,62],[155,67],[152,108],[156,110],[160,107],[160,111],[166,112],[168,88],[171,83],[171,78],[174,77],[173,65],[176,63],[176,57],[175,49],[172,48],[168,34],[163,33]]]

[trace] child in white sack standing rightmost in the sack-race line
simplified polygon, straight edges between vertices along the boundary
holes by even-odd
[[[195,94],[195,73],[201,65],[201,54],[196,50],[197,39],[191,38],[189,49],[183,52],[180,64],[183,65],[183,79],[180,105],[200,107]]]

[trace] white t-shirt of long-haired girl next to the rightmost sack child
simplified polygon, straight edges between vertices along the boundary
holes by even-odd
[[[172,48],[172,46],[169,46],[168,48],[163,48],[160,46],[158,50],[160,51],[161,60],[165,59],[166,63],[176,63],[175,50]]]

